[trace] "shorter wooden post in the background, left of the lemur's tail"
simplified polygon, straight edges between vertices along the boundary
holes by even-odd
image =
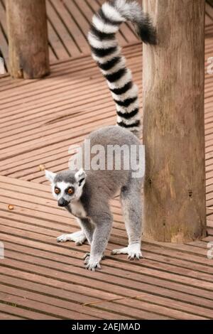
[[[6,0],[9,71],[12,77],[48,75],[48,31],[45,0]]]

